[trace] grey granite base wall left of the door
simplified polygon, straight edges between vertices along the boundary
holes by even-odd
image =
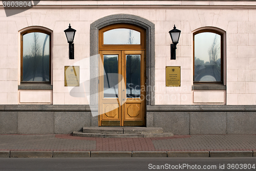
[[[91,125],[89,105],[6,105],[0,134],[72,134]]]

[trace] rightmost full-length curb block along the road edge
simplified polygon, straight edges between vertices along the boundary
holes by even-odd
[[[210,151],[210,157],[252,157],[253,151]]]

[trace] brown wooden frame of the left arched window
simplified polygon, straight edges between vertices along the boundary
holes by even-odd
[[[49,81],[23,81],[23,36],[28,33],[45,33],[49,35]],[[52,75],[52,34],[46,30],[41,29],[30,29],[25,30],[20,33],[20,83],[51,83],[51,75]]]

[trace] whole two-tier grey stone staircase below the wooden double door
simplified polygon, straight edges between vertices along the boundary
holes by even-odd
[[[82,132],[73,132],[73,136],[97,138],[149,138],[173,137],[173,133],[163,133],[161,127],[83,127]]]

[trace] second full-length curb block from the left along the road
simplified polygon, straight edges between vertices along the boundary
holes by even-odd
[[[69,151],[69,152],[55,152],[53,151],[52,157],[58,158],[65,158],[65,157],[91,157],[91,152],[76,152],[76,151]]]

